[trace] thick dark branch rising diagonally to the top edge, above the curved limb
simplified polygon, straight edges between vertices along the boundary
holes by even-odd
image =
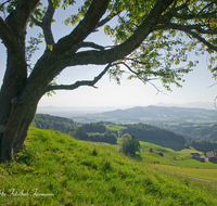
[[[66,53],[71,48],[81,42],[97,27],[100,18],[105,13],[110,0],[93,0],[85,18],[68,35],[59,40],[53,47],[56,54]]]

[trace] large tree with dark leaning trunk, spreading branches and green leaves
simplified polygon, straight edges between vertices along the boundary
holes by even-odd
[[[7,48],[7,69],[0,91],[0,160],[13,159],[13,154],[22,147],[37,104],[47,92],[94,87],[106,73],[118,81],[125,72],[130,74],[129,79],[143,82],[161,79],[169,89],[170,82],[180,86],[182,74],[195,66],[195,62],[188,60],[191,51],[197,55],[207,52],[208,67],[215,75],[216,0],[84,0],[82,3],[76,14],[65,20],[66,25],[74,26],[72,31],[55,41],[51,27],[55,10],[75,7],[75,0],[0,0],[0,38]],[[39,39],[31,38],[30,47],[26,46],[28,25],[41,28],[40,37],[47,44],[30,73],[28,60]],[[86,40],[100,27],[114,38],[113,46]],[[186,66],[177,67],[181,62]],[[52,83],[66,67],[91,64],[104,65],[93,80]]]

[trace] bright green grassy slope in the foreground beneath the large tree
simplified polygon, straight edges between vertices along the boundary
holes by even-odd
[[[117,145],[30,128],[16,163],[0,164],[0,205],[217,204],[215,183],[159,170],[145,156],[156,154],[148,153],[145,144],[142,150],[144,154],[125,156]]]

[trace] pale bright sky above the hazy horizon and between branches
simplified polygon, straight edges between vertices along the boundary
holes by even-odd
[[[73,26],[66,27],[62,23],[68,14],[68,11],[56,10],[54,16],[56,23],[53,23],[52,25],[55,41],[69,34],[73,29]],[[37,34],[40,31],[39,27],[33,29],[28,28],[27,39],[30,36],[37,37]],[[112,39],[103,36],[102,31],[103,30],[101,29],[99,33],[94,33],[88,40],[111,46]],[[40,50],[37,51],[31,59],[33,64],[41,55],[44,47],[44,43],[40,44]],[[190,59],[194,60],[195,56],[191,54]],[[0,83],[2,83],[5,70],[5,48],[0,43]],[[199,56],[199,61],[200,64],[194,67],[193,72],[184,76],[186,82],[182,83],[182,88],[171,86],[173,92],[166,91],[157,80],[152,82],[161,88],[164,91],[163,93],[157,93],[156,89],[151,83],[148,82],[144,85],[138,79],[126,80],[123,78],[120,80],[120,86],[118,86],[115,80],[110,80],[108,75],[105,75],[95,85],[98,89],[80,87],[73,91],[56,91],[56,94],[53,94],[52,96],[43,95],[38,106],[127,108],[132,106],[156,105],[158,103],[177,105],[189,102],[202,102],[204,107],[208,104],[209,108],[215,110],[213,102],[217,95],[217,86],[213,85],[215,85],[216,81],[212,78],[212,73],[207,70],[207,56]],[[61,73],[56,82],[72,83],[76,80],[93,79],[103,68],[103,66],[95,65],[69,67]],[[201,105],[201,107],[203,107],[203,105]]]

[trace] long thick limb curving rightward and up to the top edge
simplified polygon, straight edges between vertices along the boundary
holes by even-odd
[[[152,31],[152,27],[161,14],[173,3],[173,0],[158,0],[152,9],[149,16],[142,22],[138,29],[124,43],[104,51],[84,51],[73,55],[65,56],[66,66],[85,65],[85,64],[106,64],[106,62],[115,62],[123,60]]]

